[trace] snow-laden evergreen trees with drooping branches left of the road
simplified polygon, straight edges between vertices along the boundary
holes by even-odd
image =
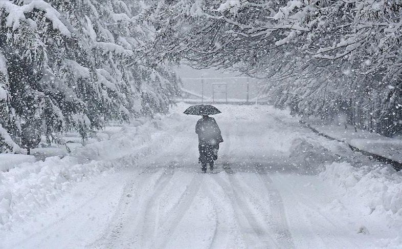
[[[85,139],[108,120],[167,110],[180,80],[142,52],[153,39],[152,27],[137,20],[144,8],[0,1],[0,124],[14,142],[25,129],[48,142],[67,130]]]

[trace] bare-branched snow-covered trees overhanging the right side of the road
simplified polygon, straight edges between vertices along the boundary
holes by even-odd
[[[265,79],[275,105],[386,135],[402,130],[400,1],[161,1],[155,60]]]

